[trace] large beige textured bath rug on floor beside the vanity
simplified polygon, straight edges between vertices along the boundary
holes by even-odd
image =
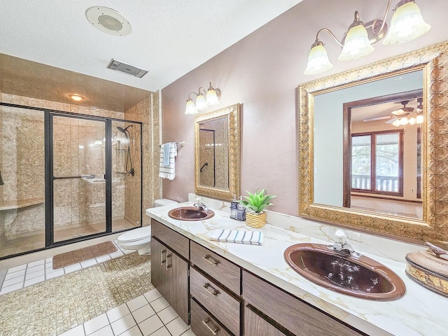
[[[0,295],[0,335],[59,335],[153,288],[151,255],[130,253]]]

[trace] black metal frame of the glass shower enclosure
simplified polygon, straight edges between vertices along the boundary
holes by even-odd
[[[34,111],[41,111],[44,113],[44,146],[45,146],[45,247],[44,248],[36,248],[34,250],[25,251],[21,253],[16,253],[13,255],[8,255],[6,257],[0,258],[0,260],[6,259],[6,258],[13,258],[18,255],[25,255],[28,253],[36,252],[36,251],[43,251],[48,248],[53,248],[56,246],[63,246],[67,244],[71,244],[78,241],[84,241],[96,237],[102,237],[107,236],[119,232],[124,232],[127,230],[132,229],[125,229],[125,230],[117,230],[115,232],[112,232],[112,144],[111,144],[111,138],[112,138],[112,122],[118,121],[123,123],[131,123],[132,125],[138,125],[140,128],[140,227],[143,224],[143,186],[144,186],[144,174],[143,174],[143,123],[140,121],[135,120],[126,120],[126,119],[119,119],[119,118],[109,118],[109,117],[102,117],[102,116],[91,116],[88,114],[81,114],[81,113],[73,113],[73,112],[66,112],[66,111],[58,111],[53,109],[45,109],[40,108],[36,106],[26,106],[26,105],[19,105],[19,104],[10,104],[10,103],[4,103],[0,102],[0,106],[9,106],[14,107],[18,109],[29,109]],[[95,120],[95,121],[101,121],[105,123],[105,134],[106,139],[109,139],[106,141],[106,148],[105,148],[105,162],[106,162],[106,231],[105,232],[99,232],[95,233],[93,235],[86,235],[81,237],[75,237],[73,239],[67,239],[62,241],[54,241],[54,214],[53,214],[53,148],[52,148],[52,117],[53,116],[62,116],[67,118],[79,118],[83,120]]]

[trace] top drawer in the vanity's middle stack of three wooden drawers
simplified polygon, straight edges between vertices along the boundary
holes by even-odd
[[[190,261],[237,295],[241,294],[241,269],[200,244],[191,242]]]

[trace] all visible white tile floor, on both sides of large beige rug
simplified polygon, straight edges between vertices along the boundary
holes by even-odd
[[[116,241],[114,241],[116,244]],[[35,283],[63,276],[100,262],[118,258],[133,251],[117,246],[118,251],[102,257],[85,260],[63,269],[52,269],[52,258],[11,267],[1,283],[0,295]],[[0,279],[1,282],[1,279]],[[180,316],[158,292],[150,290],[144,295],[115,307],[90,321],[68,330],[60,336],[195,336]]]

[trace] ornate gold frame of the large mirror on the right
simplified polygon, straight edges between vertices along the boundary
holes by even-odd
[[[398,73],[423,70],[423,219],[376,214],[314,202],[314,96]],[[358,69],[299,85],[297,89],[299,216],[398,239],[448,246],[448,41]]]

